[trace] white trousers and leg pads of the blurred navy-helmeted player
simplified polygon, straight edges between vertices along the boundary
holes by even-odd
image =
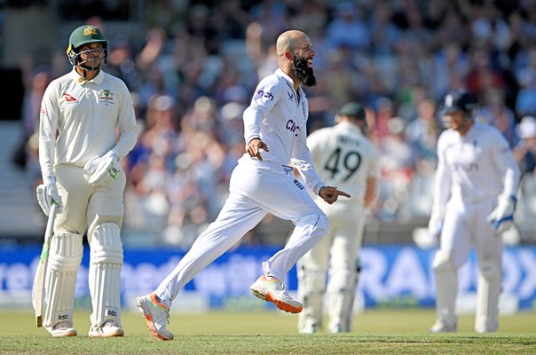
[[[475,248],[479,268],[476,330],[496,331],[502,281],[502,239],[486,217],[495,201],[461,204],[449,201],[441,233],[441,246],[432,267],[436,279],[437,320],[455,325],[458,271]]]

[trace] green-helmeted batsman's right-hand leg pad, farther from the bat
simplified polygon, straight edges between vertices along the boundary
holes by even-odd
[[[97,225],[91,235],[90,248],[91,327],[100,327],[108,319],[121,327],[122,242],[119,226],[114,223]]]

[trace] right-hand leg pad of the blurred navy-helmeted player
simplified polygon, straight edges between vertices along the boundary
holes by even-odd
[[[477,288],[475,331],[495,332],[499,327],[499,296],[501,295],[501,261],[483,261]]]

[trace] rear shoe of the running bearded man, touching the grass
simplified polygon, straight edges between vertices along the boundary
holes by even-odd
[[[138,297],[136,305],[141,315],[146,318],[147,327],[154,336],[162,340],[173,340],[175,335],[166,329],[169,323],[169,308],[161,304],[154,293]]]

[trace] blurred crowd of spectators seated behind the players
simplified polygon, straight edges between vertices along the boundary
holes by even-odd
[[[309,132],[333,124],[348,101],[367,106],[367,135],[382,154],[371,217],[428,217],[439,103],[451,89],[475,92],[480,118],[508,138],[525,175],[534,170],[536,0],[152,3],[144,31],[107,36],[105,71],[127,83],[139,125],[123,162],[125,231],[189,247],[216,217],[244,153],[241,114],[258,80],[277,67],[274,43],[289,28],[307,33],[317,53],[318,85],[305,88]],[[106,21],[88,23],[106,36]],[[46,67],[21,62],[27,169],[36,184],[39,105],[50,80],[70,70],[62,51]]]

